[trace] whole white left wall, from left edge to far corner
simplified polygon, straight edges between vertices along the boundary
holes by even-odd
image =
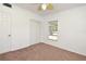
[[[25,9],[19,8],[15,4],[12,4],[12,5],[13,5],[12,9],[10,9],[0,4],[0,13],[1,13],[0,22],[2,23],[3,20],[5,20],[5,22],[9,23],[9,34],[4,31],[3,35],[4,34],[7,34],[7,36],[11,35],[11,38],[9,41],[5,41],[5,42],[0,41],[0,53],[25,48],[33,43],[39,42],[40,40],[39,38],[36,38],[36,39],[33,38],[33,37],[39,37],[40,36],[39,34],[37,35],[34,34],[35,36],[33,35],[30,39],[30,36],[32,36],[30,33],[36,31],[34,29],[32,30],[30,20],[40,21],[41,17]],[[3,14],[5,17],[2,17]],[[4,26],[1,28],[3,29]],[[9,38],[9,36],[7,38]]]

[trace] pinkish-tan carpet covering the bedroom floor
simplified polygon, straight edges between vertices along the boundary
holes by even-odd
[[[86,61],[86,56],[69,52],[46,43],[33,44],[28,48],[3,53],[2,61]]]

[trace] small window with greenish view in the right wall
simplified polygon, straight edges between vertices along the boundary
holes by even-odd
[[[58,40],[58,21],[49,22],[49,39]]]

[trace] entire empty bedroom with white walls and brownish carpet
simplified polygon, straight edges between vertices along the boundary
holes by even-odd
[[[86,61],[85,16],[86,3],[0,3],[0,60]]]

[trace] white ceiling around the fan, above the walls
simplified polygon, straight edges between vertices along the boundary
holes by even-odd
[[[64,10],[73,9],[81,5],[86,5],[86,3],[53,3],[53,10],[49,11],[38,11],[40,3],[16,3],[17,7],[29,10],[34,13],[37,13],[41,16],[58,13]]]

